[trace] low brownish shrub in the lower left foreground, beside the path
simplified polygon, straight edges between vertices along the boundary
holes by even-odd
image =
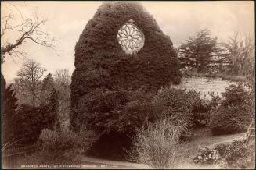
[[[38,150],[16,161],[19,165],[79,165],[81,154],[96,140],[92,131],[59,133],[44,129],[38,140]]]

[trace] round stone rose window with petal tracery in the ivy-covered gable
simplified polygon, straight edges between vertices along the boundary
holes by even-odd
[[[131,19],[118,30],[117,41],[125,53],[133,55],[143,48],[144,35]]]

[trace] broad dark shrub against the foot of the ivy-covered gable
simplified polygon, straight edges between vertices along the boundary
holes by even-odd
[[[146,92],[133,90],[93,90],[84,98],[79,117],[97,133],[124,133],[132,135],[135,129],[146,122],[150,114],[150,98]]]

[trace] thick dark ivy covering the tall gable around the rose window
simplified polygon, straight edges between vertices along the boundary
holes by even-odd
[[[117,41],[118,29],[129,19],[135,21],[145,36],[144,47],[135,55],[125,54]],[[76,128],[81,126],[76,124],[81,121],[78,118],[85,114],[81,112],[82,103],[85,104],[88,101],[85,98],[95,96],[97,91],[106,88],[109,92],[103,96],[118,94],[127,100],[120,94],[122,90],[116,92],[116,89],[137,90],[144,86],[148,90],[157,90],[167,86],[170,81],[180,81],[178,58],[170,37],[160,30],[156,20],[136,2],[104,2],[99,7],[75,46],[74,65],[70,122]],[[114,101],[116,106],[121,104],[118,102],[122,101]],[[113,104],[108,107],[112,107],[116,115],[121,114],[118,113],[120,109]],[[88,114],[94,116],[93,112]],[[121,119],[115,117],[111,121]]]

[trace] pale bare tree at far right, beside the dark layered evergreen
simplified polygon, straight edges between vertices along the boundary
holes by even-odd
[[[246,75],[254,66],[254,37],[252,35],[241,36],[238,32],[229,38],[228,43],[224,43],[229,51],[228,59],[230,62],[229,72],[233,74]]]

